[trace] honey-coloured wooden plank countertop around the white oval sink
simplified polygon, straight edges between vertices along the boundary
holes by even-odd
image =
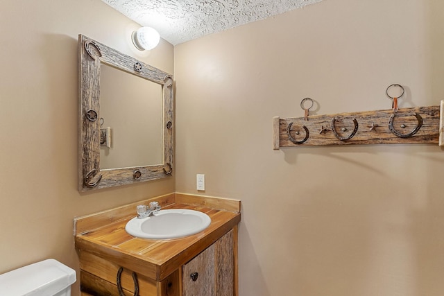
[[[205,206],[206,203],[191,205],[175,201],[162,206],[162,209],[202,211],[210,216],[210,226],[198,234],[185,238],[136,238],[125,231],[126,223],[135,217],[133,211],[132,214],[119,218],[119,220],[109,219],[110,221],[103,223],[103,226],[96,225],[97,227],[94,229],[75,233],[76,250],[80,256],[82,252],[94,254],[155,281],[162,281],[181,265],[212,245],[230,229],[237,232],[237,225],[241,220],[239,211],[213,209]],[[74,230],[76,232],[76,229]]]

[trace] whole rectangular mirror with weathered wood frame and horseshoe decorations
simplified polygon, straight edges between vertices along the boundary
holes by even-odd
[[[173,76],[78,36],[78,189],[169,177]]]

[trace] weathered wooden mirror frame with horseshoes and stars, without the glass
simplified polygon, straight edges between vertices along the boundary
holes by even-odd
[[[100,170],[101,63],[162,85],[162,164]],[[89,191],[171,176],[173,171],[173,76],[78,35],[78,190]],[[137,145],[137,143],[135,143]]]

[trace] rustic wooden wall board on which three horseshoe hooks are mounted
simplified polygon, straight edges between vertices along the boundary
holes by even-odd
[[[429,107],[411,107],[399,109],[393,119],[393,127],[401,134],[408,134],[418,121],[413,112],[422,116],[422,127],[413,134],[412,137],[400,138],[393,134],[388,128],[390,116],[393,110],[377,110],[368,112],[339,113],[329,115],[309,116],[305,121],[303,117],[279,119],[279,147],[302,147],[302,146],[326,146],[326,145],[365,145],[365,144],[400,144],[400,143],[438,143],[439,137],[439,119],[440,106]],[[336,118],[334,128],[340,137],[348,137],[354,129],[353,119],[357,120],[359,125],[354,137],[349,140],[341,141],[337,139],[332,131],[332,119]],[[274,125],[277,119],[273,119]],[[309,138],[304,143],[295,144],[289,140],[287,127],[290,123],[291,137],[300,141],[305,137],[305,130],[309,130]],[[404,128],[401,125],[405,125]],[[373,128],[372,128],[373,127]],[[345,129],[344,131],[341,129]],[[276,132],[276,128],[273,128]],[[322,131],[322,132],[321,132]],[[298,133],[298,134],[297,134]],[[275,142],[276,135],[273,134]],[[273,148],[277,148],[273,144]]]

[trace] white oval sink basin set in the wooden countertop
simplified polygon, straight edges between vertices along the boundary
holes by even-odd
[[[210,223],[210,216],[201,211],[162,209],[153,216],[129,220],[125,230],[139,238],[180,238],[201,232]]]

